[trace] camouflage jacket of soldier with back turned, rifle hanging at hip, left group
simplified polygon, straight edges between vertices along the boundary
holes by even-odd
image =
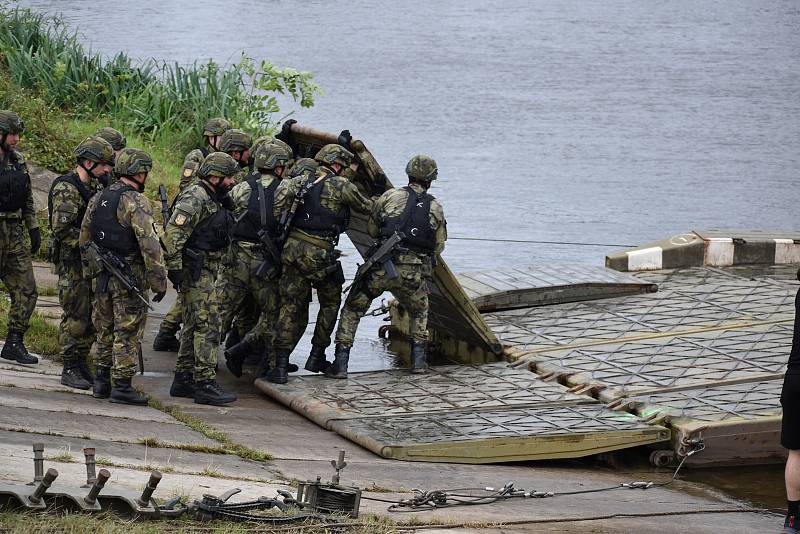
[[[116,182],[110,185],[110,188],[124,187],[122,182]],[[89,206],[86,208],[86,216],[83,218],[81,224],[80,244],[86,245],[91,239],[90,225],[92,224],[92,216],[94,215],[95,205],[97,204],[100,194],[96,193],[91,200]],[[131,228],[136,241],[139,243],[139,251],[141,252],[141,259],[144,260],[144,276],[147,285],[154,293],[166,291],[167,289],[167,270],[164,267],[164,256],[161,252],[161,245],[156,235],[155,223],[153,222],[153,208],[150,201],[143,194],[138,191],[126,191],[119,199],[119,206],[117,207],[117,221],[123,228]],[[139,255],[131,258],[133,263],[141,263]],[[139,269],[141,270],[141,265]]]

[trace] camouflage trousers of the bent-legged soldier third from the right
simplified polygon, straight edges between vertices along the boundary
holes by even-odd
[[[262,261],[255,247],[232,244],[217,278],[217,302],[223,335],[230,330],[236,317],[237,327],[246,328],[239,331],[241,338],[272,347],[278,319],[278,279],[267,280],[255,275]]]

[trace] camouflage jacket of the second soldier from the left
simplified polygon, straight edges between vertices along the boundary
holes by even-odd
[[[75,174],[75,172],[73,171],[71,174]],[[90,178],[88,183],[84,182],[83,185],[90,195],[94,195],[102,189],[100,183],[93,178]],[[52,230],[52,239],[58,243],[60,250],[56,261],[80,258],[78,238],[82,221],[79,221],[78,217],[86,208],[87,203],[73,184],[64,181],[53,187],[50,198],[53,204],[50,229]]]

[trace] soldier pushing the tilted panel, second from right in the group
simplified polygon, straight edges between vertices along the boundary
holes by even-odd
[[[280,281],[281,310],[276,332],[276,364],[268,380],[285,384],[289,355],[300,330],[302,308],[308,309],[311,288],[317,290],[319,312],[305,368],[325,369],[325,349],[331,344],[336,314],[342,299],[344,273],[335,249],[339,235],[347,229],[350,209],[369,213],[372,202],[355,185],[339,176],[353,161],[353,154],[339,145],[325,145],[314,159],[316,173],[284,181],[278,188],[276,210],[288,208],[292,228],[283,248]],[[300,193],[298,195],[298,192]],[[299,204],[295,200],[302,198]],[[291,205],[291,206],[290,206]],[[302,325],[305,327],[305,324]]]

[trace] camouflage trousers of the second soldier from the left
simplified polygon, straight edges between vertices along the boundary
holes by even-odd
[[[58,301],[64,310],[58,325],[58,343],[65,361],[86,359],[95,341],[92,324],[92,280],[83,276],[80,255],[61,261],[58,272]]]

